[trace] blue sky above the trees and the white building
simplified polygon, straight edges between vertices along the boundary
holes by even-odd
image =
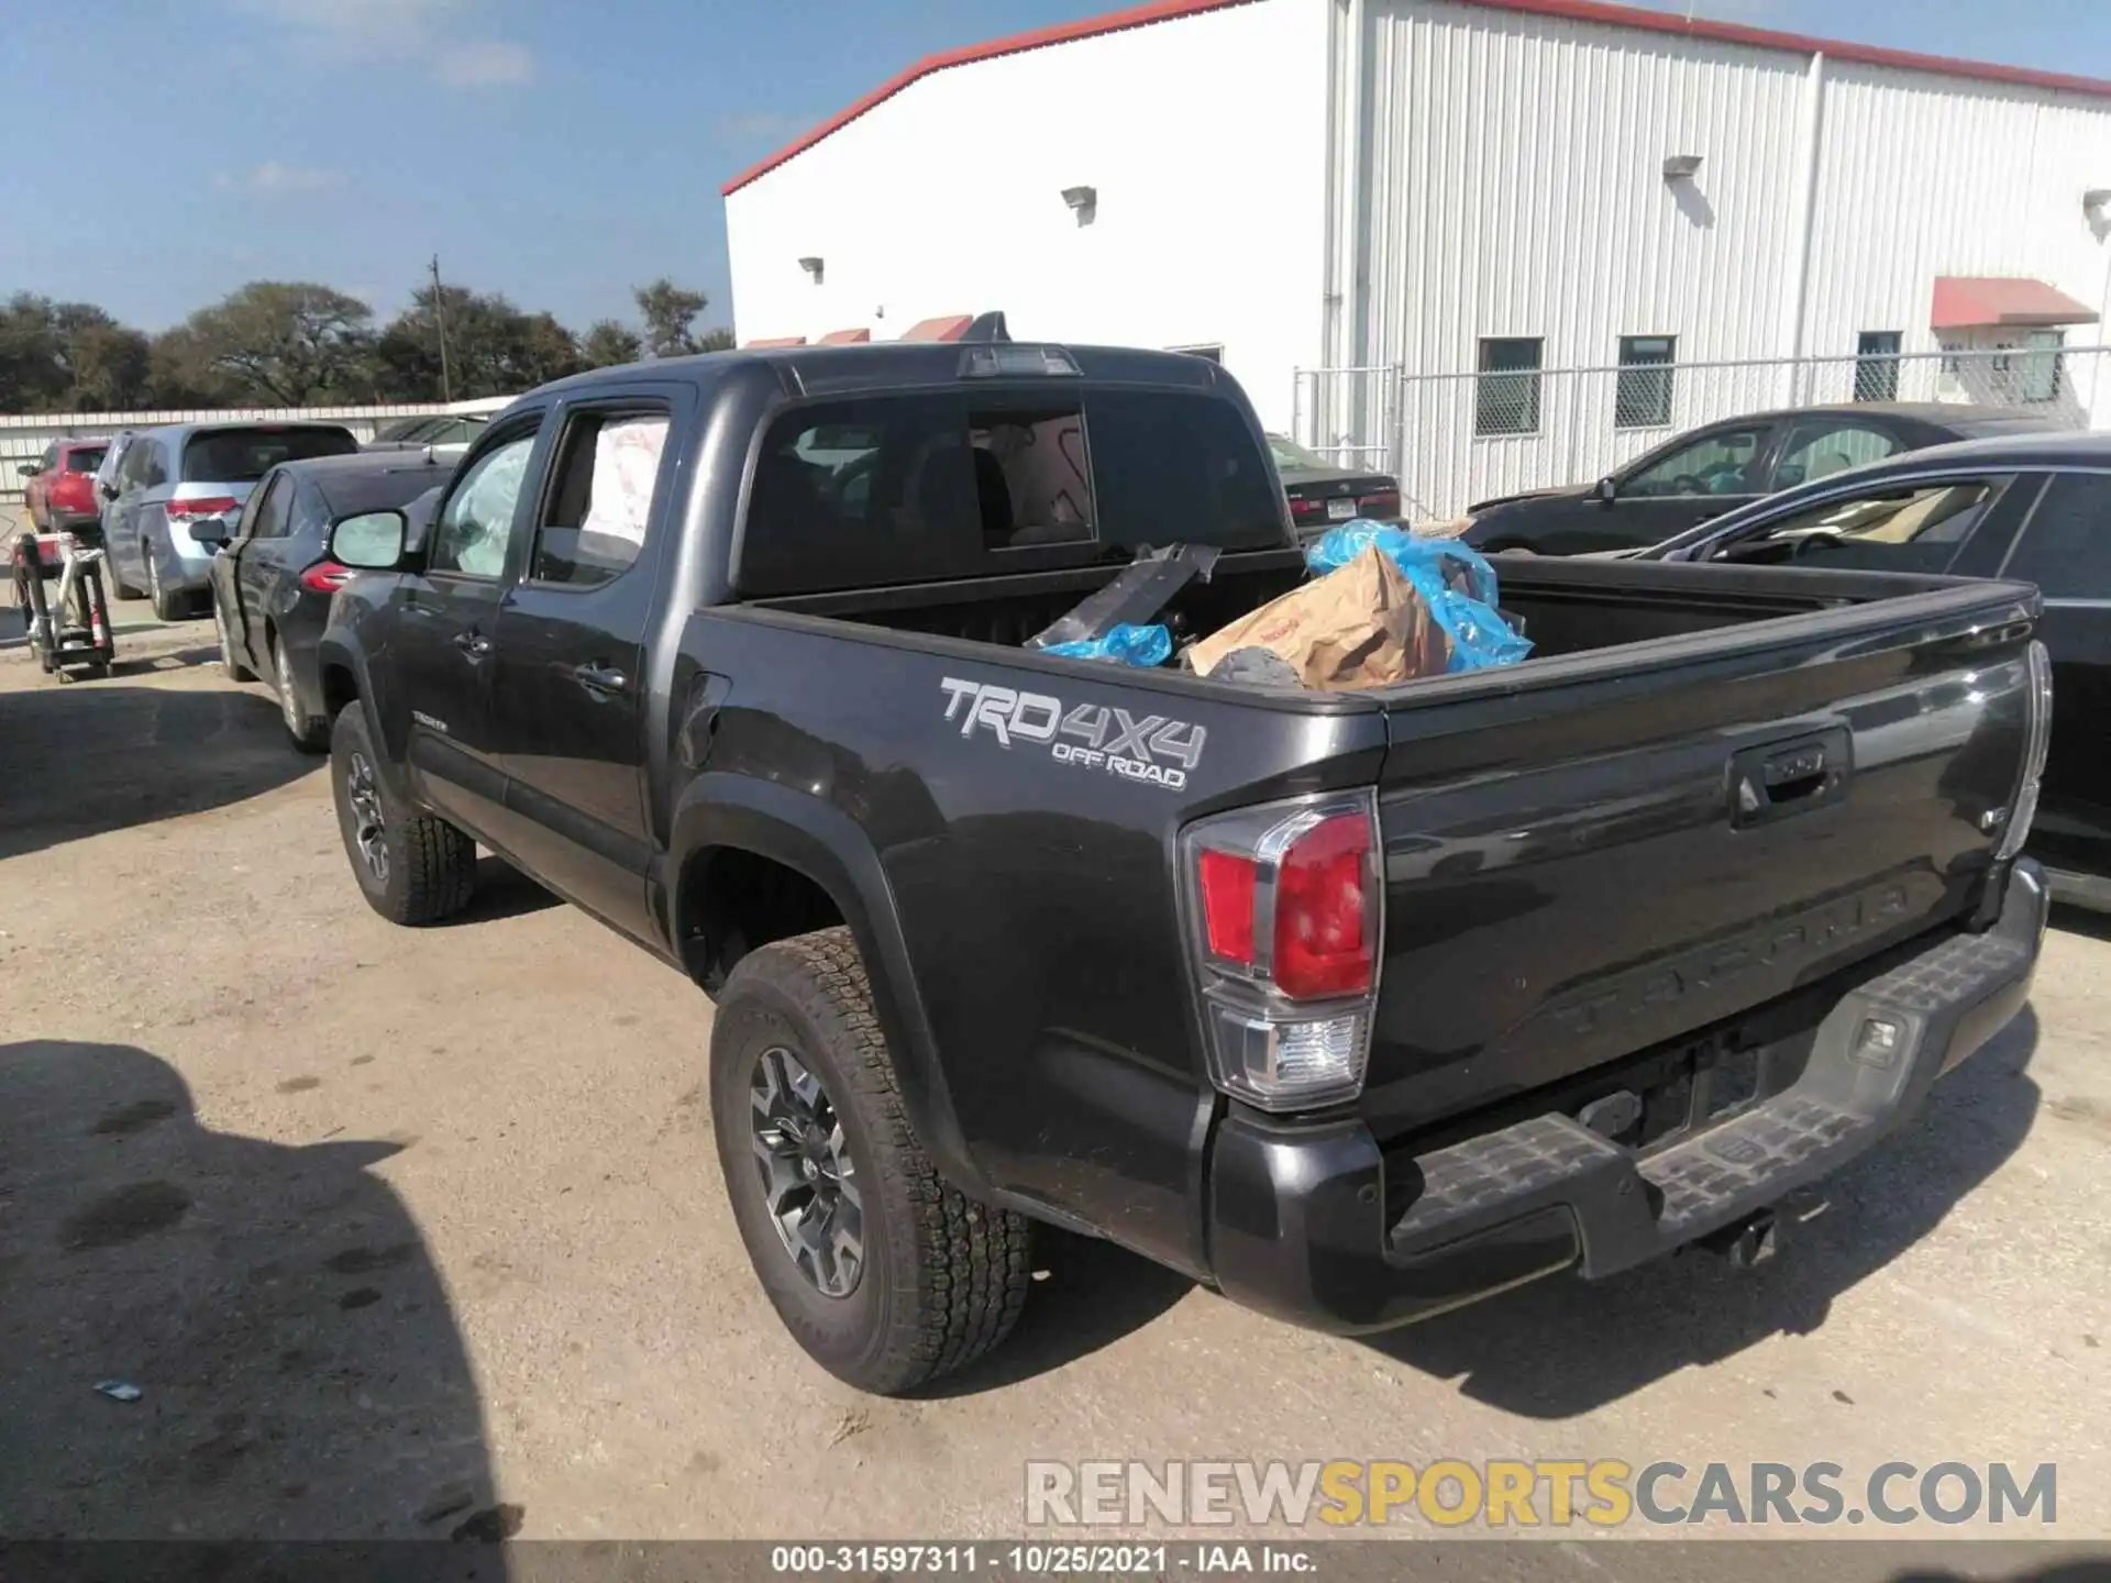
[[[450,283],[585,327],[671,274],[730,314],[733,173],[918,55],[1096,0],[15,0],[0,295],[146,329],[251,279]],[[1682,0],[1659,8],[1682,11]],[[2111,78],[2105,0],[1697,13]],[[63,171],[63,177],[51,173]]]

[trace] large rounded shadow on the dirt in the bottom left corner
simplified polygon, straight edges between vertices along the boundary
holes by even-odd
[[[393,1152],[211,1131],[141,1049],[0,1045],[0,1532],[517,1530]]]

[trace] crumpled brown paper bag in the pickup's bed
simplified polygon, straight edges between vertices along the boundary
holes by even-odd
[[[1450,659],[1429,606],[1376,547],[1216,629],[1188,650],[1188,663],[1207,675],[1235,648],[1267,648],[1326,692],[1442,675]]]

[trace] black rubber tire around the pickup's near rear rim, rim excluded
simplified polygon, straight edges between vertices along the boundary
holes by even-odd
[[[768,1049],[790,1049],[821,1081],[855,1161],[866,1258],[842,1298],[794,1264],[758,1184],[749,1083]],[[779,939],[733,969],[711,1028],[711,1129],[756,1277],[830,1374],[901,1395],[1011,1334],[1032,1283],[1032,1224],[950,1186],[916,1142],[849,929]]]

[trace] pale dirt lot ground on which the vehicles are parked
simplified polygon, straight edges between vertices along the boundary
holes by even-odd
[[[1756,1273],[1362,1344],[1049,1237],[1007,1351],[872,1401],[749,1277],[709,1003],[490,859],[462,922],[380,922],[207,642],[65,688],[0,650],[4,1534],[1013,1534],[1026,1458],[1617,1456],[2054,1461],[2056,1534],[2111,1537],[2111,943],[2073,918]]]

